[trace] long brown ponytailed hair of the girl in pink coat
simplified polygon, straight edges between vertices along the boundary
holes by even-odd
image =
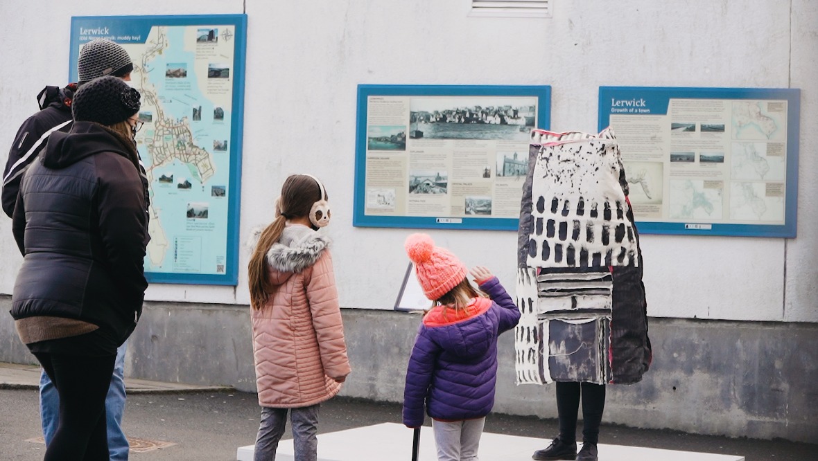
[[[318,183],[305,175],[294,174],[281,186],[276,219],[258,235],[258,243],[247,266],[247,284],[250,290],[250,306],[261,309],[267,303],[275,287],[267,277],[267,252],[279,239],[288,219],[308,216],[312,204],[321,199]],[[329,199],[326,195],[324,199]]]

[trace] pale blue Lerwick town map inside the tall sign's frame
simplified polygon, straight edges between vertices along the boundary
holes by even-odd
[[[226,271],[231,26],[154,26],[124,45],[145,122],[137,146],[151,185],[146,271]],[[227,39],[226,39],[227,38]]]

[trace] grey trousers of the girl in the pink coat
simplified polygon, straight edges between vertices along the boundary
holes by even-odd
[[[290,409],[263,406],[261,423],[258,425],[258,436],[256,436],[254,461],[274,461],[276,459],[278,441],[284,435],[288,411],[290,422],[293,425],[295,461],[317,461],[318,409],[320,406]]]

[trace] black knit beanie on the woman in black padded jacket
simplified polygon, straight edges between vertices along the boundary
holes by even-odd
[[[79,87],[71,105],[76,122],[97,122],[111,126],[124,122],[139,111],[140,95],[120,78],[94,78]]]

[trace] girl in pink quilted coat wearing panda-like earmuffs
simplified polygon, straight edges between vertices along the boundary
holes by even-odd
[[[351,371],[335,289],[326,190],[293,175],[276,200],[276,219],[258,235],[248,281],[261,423],[254,460],[276,459],[287,413],[296,461],[316,461],[318,410]]]

